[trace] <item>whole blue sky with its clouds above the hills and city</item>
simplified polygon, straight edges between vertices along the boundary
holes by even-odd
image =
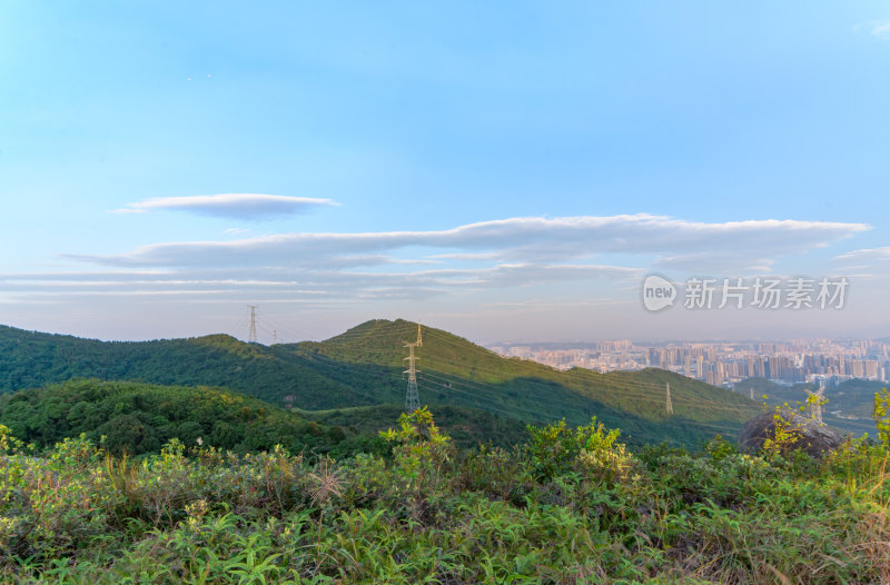
[[[0,323],[890,335],[888,70],[878,1],[8,0]],[[651,272],[849,298],[651,314]]]

